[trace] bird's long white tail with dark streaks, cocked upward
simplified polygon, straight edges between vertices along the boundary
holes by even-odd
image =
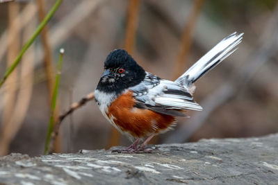
[[[190,87],[196,80],[203,76],[206,72],[217,66],[222,60],[227,58],[231,53],[234,53],[234,49],[243,39],[243,33],[237,35],[232,33],[228,37],[222,39],[216,46],[208,51],[206,55],[200,58],[190,69],[188,69],[182,76],[180,76],[176,82],[181,83],[186,87]]]

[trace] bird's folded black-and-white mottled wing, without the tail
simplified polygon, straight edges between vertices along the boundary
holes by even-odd
[[[154,112],[171,116],[185,116],[180,110],[201,111],[186,87],[177,82],[163,80],[147,73],[144,81],[129,88],[136,98],[136,107],[152,109]]]

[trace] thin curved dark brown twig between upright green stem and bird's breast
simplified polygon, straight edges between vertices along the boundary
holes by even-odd
[[[62,121],[64,120],[65,117],[68,115],[72,114],[76,109],[79,109],[79,107],[82,107],[86,103],[88,103],[90,100],[95,99],[95,93],[92,92],[88,94],[87,96],[83,97],[79,102],[73,103],[70,109],[67,110],[64,114],[61,114],[58,118],[58,122],[55,124],[54,130],[51,133],[51,141],[49,143],[49,153],[53,152],[53,147],[54,147],[54,141],[56,140],[56,137],[58,136],[59,133],[59,128],[60,125],[62,124]]]

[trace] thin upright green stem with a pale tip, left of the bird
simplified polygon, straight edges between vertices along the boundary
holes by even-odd
[[[64,49],[60,49],[60,57],[59,57],[59,61],[58,61],[56,80],[55,80],[54,91],[53,91],[53,95],[52,95],[52,101],[51,101],[51,115],[49,118],[47,139],[45,140],[45,146],[44,146],[44,155],[47,155],[47,153],[48,153],[51,133],[53,132],[53,129],[54,129],[54,112],[55,112],[56,100],[57,100],[57,95],[58,95],[60,73],[61,73],[62,64],[63,64],[63,54],[64,54]]]

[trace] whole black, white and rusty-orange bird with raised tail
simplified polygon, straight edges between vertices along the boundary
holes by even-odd
[[[165,80],[145,71],[124,49],[115,49],[104,61],[104,72],[95,89],[101,113],[133,141],[115,152],[149,152],[153,136],[171,130],[178,116],[202,111],[195,102],[194,83],[220,64],[242,41],[243,33],[225,37],[177,80]]]

